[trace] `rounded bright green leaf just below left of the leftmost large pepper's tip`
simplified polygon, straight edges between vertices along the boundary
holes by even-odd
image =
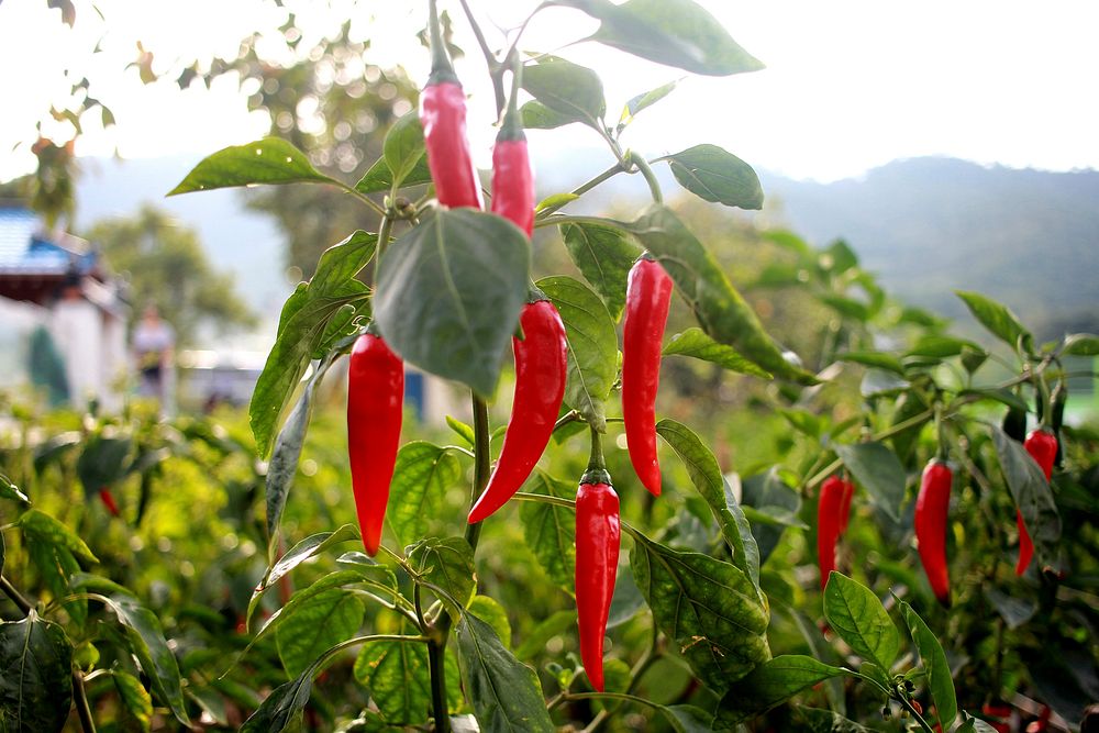
[[[299,603],[275,634],[287,674],[297,677],[325,649],[354,635],[365,611],[358,596],[342,588],[330,588]]]

